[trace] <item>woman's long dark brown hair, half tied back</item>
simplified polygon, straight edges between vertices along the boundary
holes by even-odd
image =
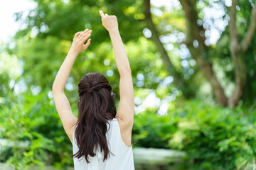
[[[99,147],[104,151],[103,162],[110,155],[107,145],[107,120],[115,118],[117,113],[114,94],[109,81],[100,73],[86,74],[78,84],[78,122],[75,129],[75,138],[78,144],[78,152],[71,157],[95,157],[94,148]],[[110,123],[108,123],[110,125]]]

